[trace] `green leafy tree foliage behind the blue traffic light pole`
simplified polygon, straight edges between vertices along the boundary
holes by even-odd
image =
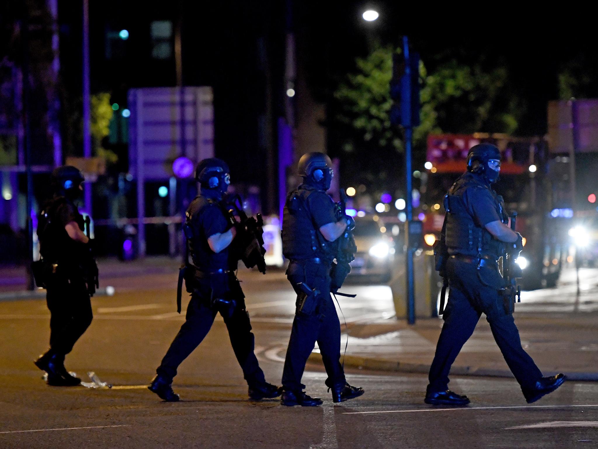
[[[329,126],[331,154],[342,156],[347,183],[380,186],[393,192],[402,186],[398,168],[403,151],[402,131],[390,125],[392,101],[389,81],[392,52],[383,47],[356,59],[356,71],[339,83],[334,93],[337,112]],[[430,133],[504,132],[517,129],[524,105],[509,86],[503,65],[492,69],[481,63],[464,65],[450,59],[428,72],[420,62],[421,125],[414,129],[414,169],[425,162]]]

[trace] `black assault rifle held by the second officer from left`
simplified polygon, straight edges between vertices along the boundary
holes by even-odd
[[[236,256],[242,260],[247,268],[258,267],[258,270],[266,274],[266,260],[264,254],[264,220],[261,214],[254,217],[248,217],[243,211],[243,202],[239,195],[228,196],[225,200],[228,211],[228,221],[236,227],[236,244],[231,250],[236,251]],[[239,217],[239,221],[237,221]]]

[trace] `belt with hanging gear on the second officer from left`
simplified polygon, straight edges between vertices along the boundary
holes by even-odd
[[[176,289],[176,311],[181,313],[182,284],[185,280],[185,290],[188,293],[197,293],[198,290],[211,290],[212,302],[225,299],[230,292],[231,281],[237,277],[233,271],[220,268],[216,271],[202,271],[193,264],[182,265],[179,268],[179,280]]]

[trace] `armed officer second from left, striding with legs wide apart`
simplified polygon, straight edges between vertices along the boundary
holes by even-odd
[[[148,388],[164,401],[179,400],[172,390],[176,370],[202,342],[216,314],[220,313],[248,383],[249,398],[276,398],[281,390],[264,380],[264,373],[254,354],[254,335],[245,310],[245,296],[234,274],[238,263],[234,254],[239,254],[239,251],[231,251],[231,247],[234,246],[237,228],[227,220],[227,206],[223,202],[230,184],[227,163],[216,158],[202,160],[197,165],[196,180],[200,183],[201,192],[191,201],[184,226],[192,260],[185,267],[184,278],[191,300],[186,321]]]

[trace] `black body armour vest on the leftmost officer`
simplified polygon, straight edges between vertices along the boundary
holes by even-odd
[[[70,206],[74,211],[74,221],[81,230],[85,229],[83,216],[79,213],[77,206],[65,196],[57,196],[45,205],[39,216],[38,238],[39,253],[49,263],[75,263],[78,255],[78,242],[74,241],[66,232],[65,225],[60,220],[59,209],[62,206]]]

